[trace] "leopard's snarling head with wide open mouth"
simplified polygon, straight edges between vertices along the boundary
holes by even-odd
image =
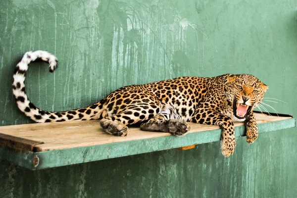
[[[233,102],[234,116],[243,119],[262,102],[268,86],[249,74],[230,75],[224,86],[225,96]]]

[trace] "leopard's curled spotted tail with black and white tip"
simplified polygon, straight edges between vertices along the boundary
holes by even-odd
[[[68,120],[90,120],[98,119],[101,115],[102,105],[100,101],[89,107],[75,109],[65,112],[50,112],[37,108],[29,101],[25,91],[25,76],[28,65],[35,60],[43,60],[49,63],[49,71],[53,72],[58,61],[56,57],[47,51],[28,51],[22,57],[22,60],[16,65],[13,75],[13,95],[18,108],[29,118],[36,122],[61,122]]]

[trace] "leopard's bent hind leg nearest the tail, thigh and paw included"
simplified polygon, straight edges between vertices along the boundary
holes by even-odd
[[[161,109],[160,99],[138,86],[123,87],[104,99],[101,127],[115,136],[126,136],[126,125],[154,117]]]

